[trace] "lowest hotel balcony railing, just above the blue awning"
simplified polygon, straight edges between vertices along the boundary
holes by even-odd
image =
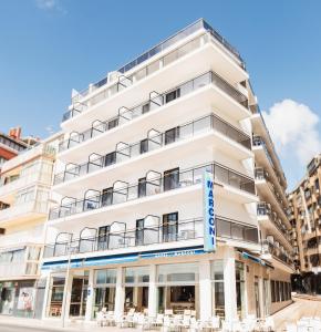
[[[258,229],[251,225],[217,216],[217,236],[222,239],[258,243]],[[203,218],[172,221],[161,226],[110,232],[103,236],[84,237],[56,241],[45,246],[44,258],[65,256],[70,248],[73,253],[113,250],[175,241],[201,239]]]

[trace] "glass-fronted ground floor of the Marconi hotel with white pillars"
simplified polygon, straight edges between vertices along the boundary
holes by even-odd
[[[269,313],[271,268],[259,260],[245,259],[234,248],[218,247],[215,253],[191,248],[133,257],[114,257],[110,261],[92,258],[92,266],[71,266],[66,318],[92,320],[103,308],[118,315],[130,309],[151,315],[190,310],[203,320]],[[60,318],[65,271],[52,271],[49,284],[46,315]]]

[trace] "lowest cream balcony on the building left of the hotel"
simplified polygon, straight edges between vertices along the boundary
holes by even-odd
[[[32,279],[39,273],[39,261],[42,247],[20,245],[0,251],[0,280]]]

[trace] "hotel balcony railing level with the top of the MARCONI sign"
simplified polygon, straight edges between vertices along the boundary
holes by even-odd
[[[58,219],[93,209],[116,205],[137,198],[161,194],[164,191],[188,187],[201,183],[205,172],[214,174],[215,181],[227,184],[249,194],[256,194],[255,181],[240,173],[229,169],[219,164],[207,164],[180,173],[174,172],[162,176],[158,172],[149,170],[144,183],[130,185],[124,181],[115,181],[108,193],[100,193],[95,196],[76,200],[68,198],[70,203],[61,204],[59,208],[51,209],[49,218]],[[92,193],[95,190],[87,190]]]

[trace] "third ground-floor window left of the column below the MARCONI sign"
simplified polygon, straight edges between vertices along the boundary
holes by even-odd
[[[116,294],[116,269],[104,269],[95,271],[94,283],[94,307],[93,314],[106,308],[108,311],[115,309],[115,294]]]

